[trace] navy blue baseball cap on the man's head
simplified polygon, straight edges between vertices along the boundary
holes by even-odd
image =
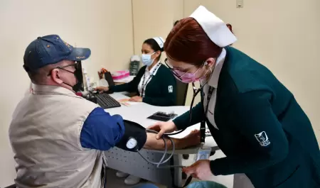
[[[73,48],[58,35],[46,35],[28,45],[23,56],[23,67],[29,72],[62,60],[87,60],[90,55],[89,48]]]

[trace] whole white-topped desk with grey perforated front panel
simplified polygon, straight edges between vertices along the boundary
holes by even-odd
[[[125,96],[124,93],[114,93],[110,94],[114,99],[128,99],[128,96]],[[156,113],[157,111],[174,111],[176,114],[181,115],[184,112],[188,111],[189,106],[151,106],[145,103],[137,103],[132,106],[121,106],[113,109],[106,109],[110,114],[119,114],[124,119],[129,121],[134,121],[139,123],[144,127],[151,126],[156,121],[147,119],[151,114]],[[188,135],[192,130],[199,129],[200,123],[191,126],[179,133],[174,138],[183,138]],[[204,147],[210,147],[212,150],[218,150],[218,146],[215,143],[215,140],[210,137],[206,137],[206,143]],[[197,148],[187,148],[183,150],[176,150],[174,153],[174,165],[181,165],[182,155],[181,154],[193,154],[197,152]],[[147,157],[151,161],[159,162],[162,157],[162,151],[154,151],[154,150],[141,150],[142,155]],[[176,168],[174,170],[174,179],[171,178],[171,170],[170,169],[158,169],[155,165],[149,164],[146,162],[138,153],[131,153],[124,150],[120,150],[119,148],[112,148],[105,152],[107,157],[108,166],[115,170],[120,170],[122,172],[127,172],[131,175],[135,175],[137,177],[142,177],[151,182],[156,182],[159,184],[167,185],[171,187],[172,181],[177,186],[182,186],[181,184],[181,169]],[[164,164],[166,165],[166,164]],[[169,164],[168,164],[169,165]]]

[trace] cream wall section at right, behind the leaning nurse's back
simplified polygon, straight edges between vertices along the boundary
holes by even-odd
[[[235,0],[184,0],[184,16],[200,4],[231,23],[234,47],[266,65],[294,94],[320,142],[320,1],[245,0],[237,9]]]

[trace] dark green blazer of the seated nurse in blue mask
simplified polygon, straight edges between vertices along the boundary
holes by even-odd
[[[127,84],[115,85],[110,87],[113,92],[138,92],[138,85],[146,66],[142,67],[137,76]],[[168,67],[161,65],[146,85],[145,96],[142,101],[154,106],[175,106],[176,105],[176,78]]]

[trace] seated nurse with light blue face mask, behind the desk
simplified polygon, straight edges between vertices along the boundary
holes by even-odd
[[[144,102],[154,106],[176,105],[176,79],[170,70],[161,63],[161,52],[164,50],[164,39],[149,38],[142,44],[141,61],[143,66],[136,77],[127,83],[113,87],[97,87],[107,92],[137,92],[129,101]]]

